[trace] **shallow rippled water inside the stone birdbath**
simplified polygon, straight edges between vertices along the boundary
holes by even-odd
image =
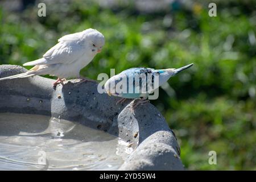
[[[0,170],[115,170],[129,143],[78,122],[0,113]]]

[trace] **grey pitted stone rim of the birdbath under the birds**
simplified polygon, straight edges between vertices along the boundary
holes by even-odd
[[[0,65],[0,77],[25,72]],[[97,92],[97,82],[70,80],[52,88],[54,80],[40,76],[0,81],[0,112],[43,114],[80,122],[125,141],[135,150],[121,170],[183,170],[176,137],[151,104],[131,111],[132,100],[116,105],[117,97]]]

